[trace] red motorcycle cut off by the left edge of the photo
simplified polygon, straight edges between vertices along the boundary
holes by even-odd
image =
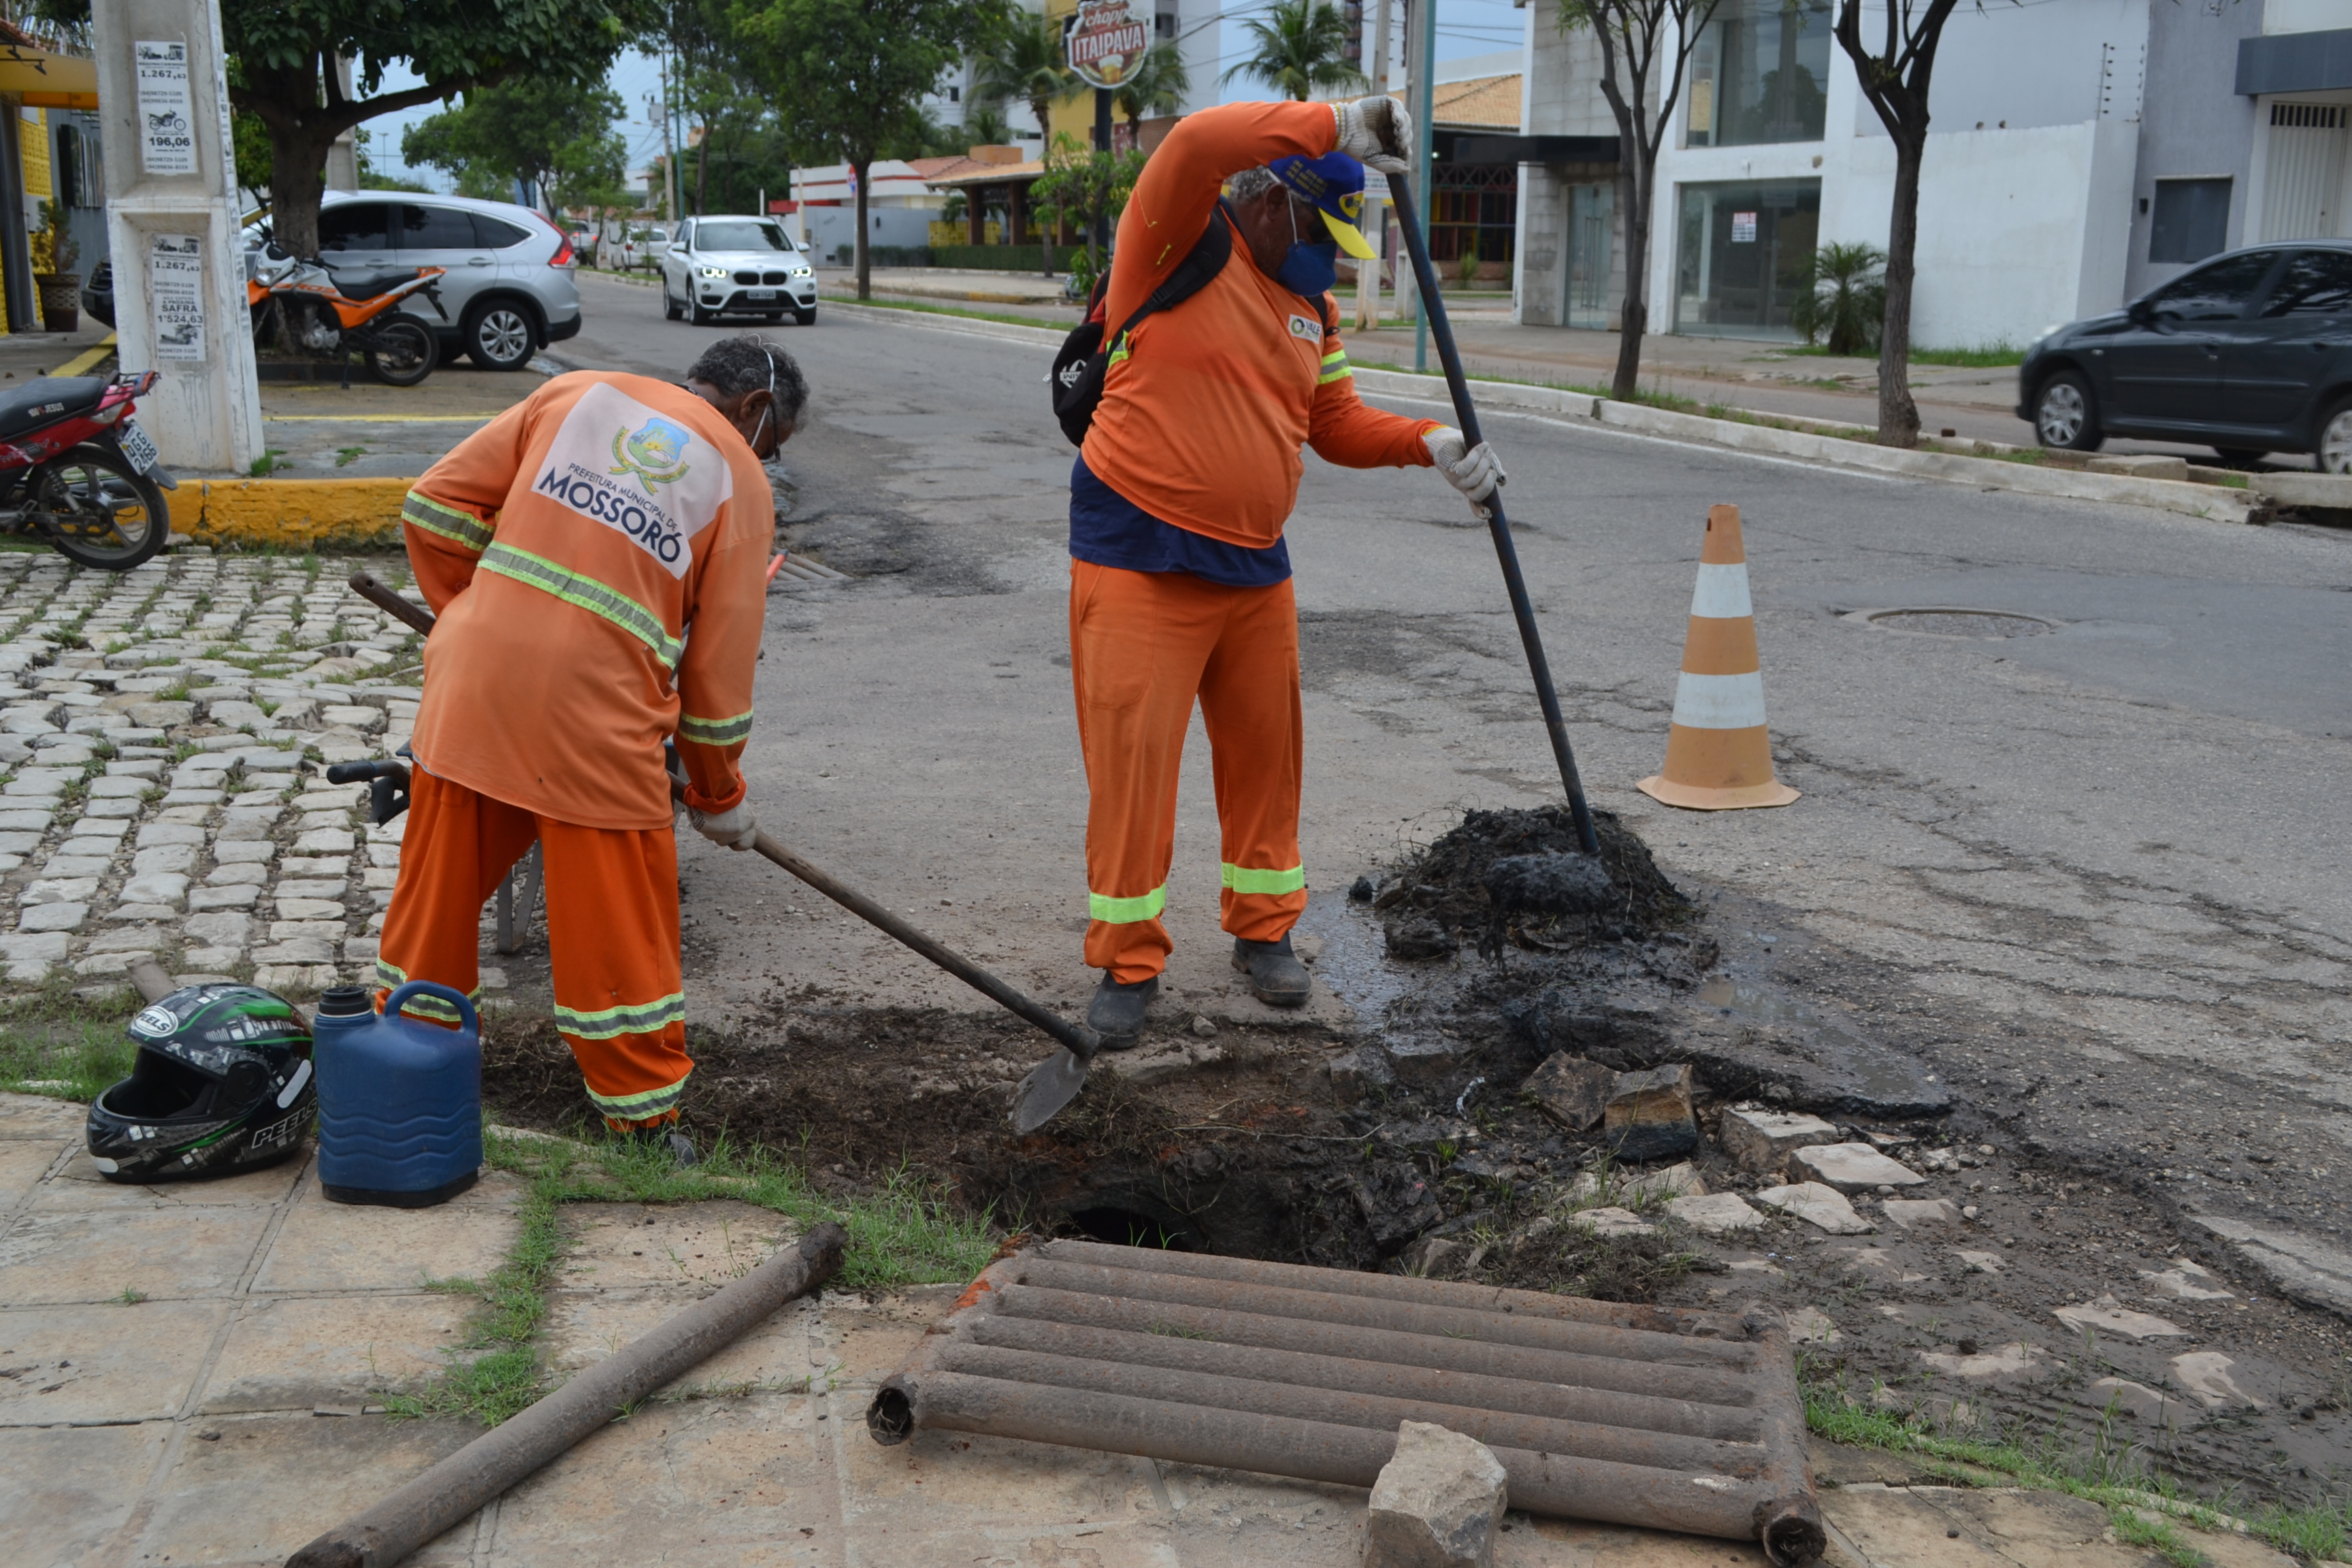
[[[40,376],[0,388],[0,536],[38,538],[66,559],[129,571],[162,550],[179,482],[132,407],[155,371]]]

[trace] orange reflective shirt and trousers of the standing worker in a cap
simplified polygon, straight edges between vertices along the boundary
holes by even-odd
[[[1209,226],[1225,179],[1329,153],[1322,103],[1225,103],[1169,132],[1120,219],[1105,320],[1117,329]],[[1268,548],[1298,501],[1301,444],[1345,468],[1430,465],[1430,418],[1364,407],[1331,296],[1291,294],[1240,237],[1192,299],[1110,350],[1087,468],[1178,529]],[[1303,722],[1289,581],[1232,588],[1181,571],[1070,564],[1070,682],[1087,757],[1087,964],[1160,973],[1176,773],[1200,701],[1223,830],[1223,929],[1279,940],[1305,910]]]

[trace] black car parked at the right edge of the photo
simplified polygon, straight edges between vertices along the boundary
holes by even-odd
[[[2051,331],[2018,367],[2018,418],[2044,447],[2136,435],[2352,473],[2352,242],[2230,252]]]

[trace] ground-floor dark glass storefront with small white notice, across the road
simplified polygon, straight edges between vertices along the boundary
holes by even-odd
[[[1820,181],[1682,186],[1675,331],[1700,339],[1792,339],[1788,306],[1804,289],[1820,235]]]

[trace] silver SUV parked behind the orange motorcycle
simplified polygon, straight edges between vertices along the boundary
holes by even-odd
[[[400,308],[440,334],[442,360],[522,369],[532,353],[581,329],[572,240],[529,207],[463,195],[327,195],[318,252],[343,277],[442,268],[442,320],[421,294]]]

